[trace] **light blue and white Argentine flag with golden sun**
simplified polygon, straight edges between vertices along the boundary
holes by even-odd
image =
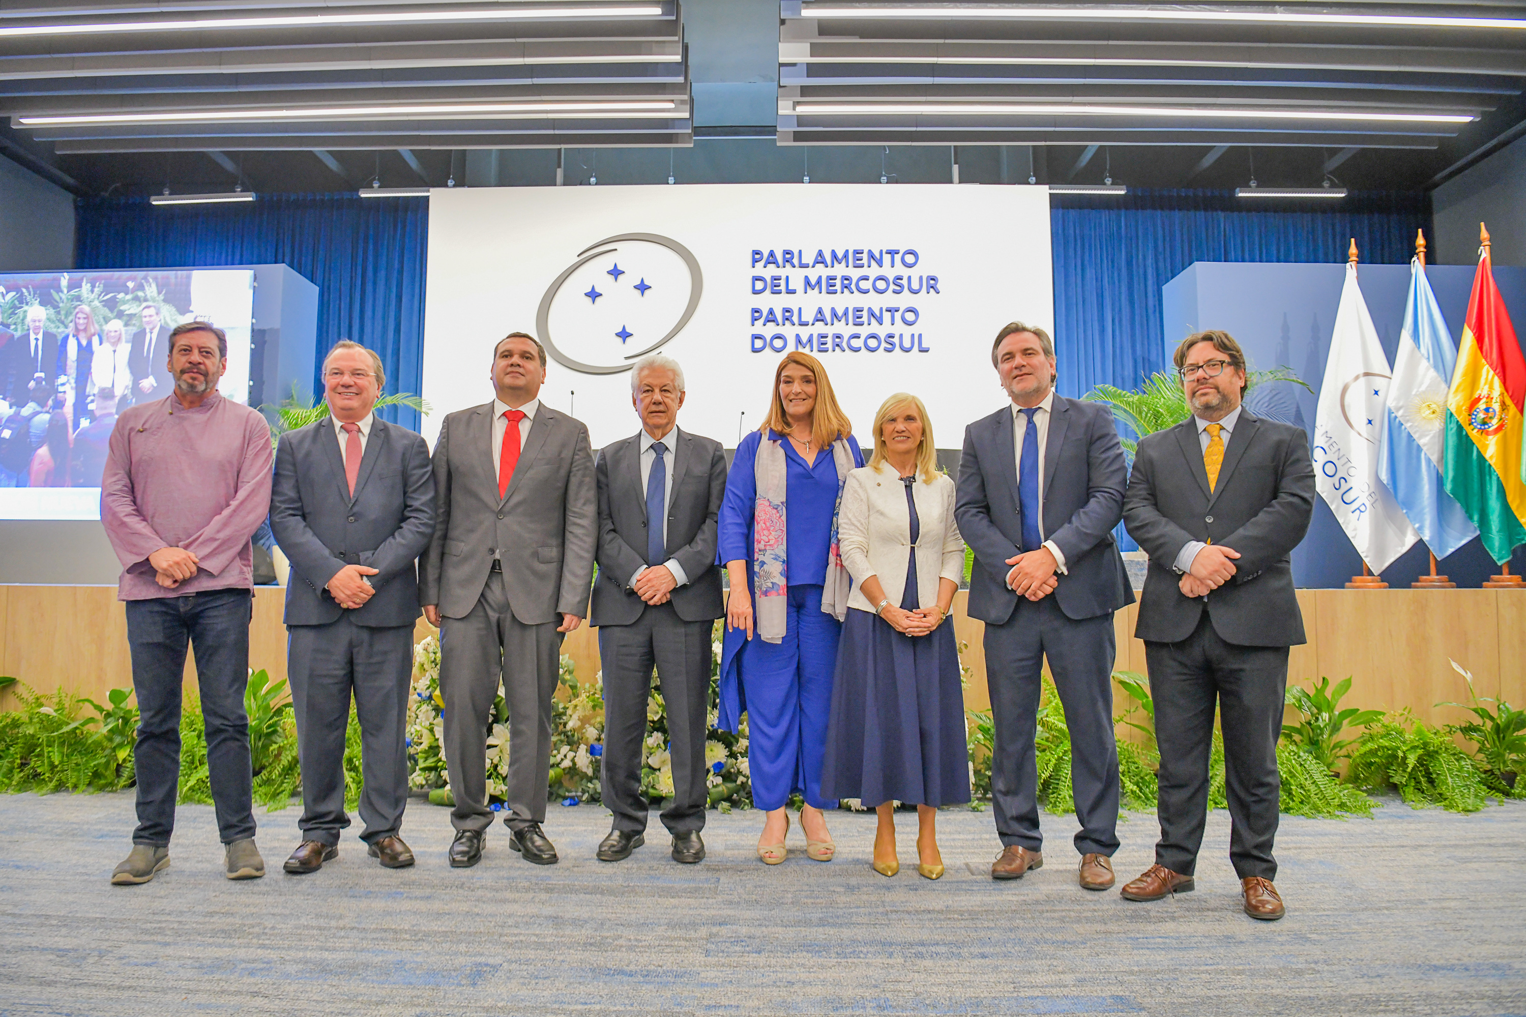
[[[1447,389],[1457,346],[1441,317],[1419,259],[1410,261],[1399,352],[1393,358],[1378,476],[1437,558],[1479,535],[1442,480],[1447,447]]]

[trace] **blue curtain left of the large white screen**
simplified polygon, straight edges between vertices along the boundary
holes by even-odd
[[[304,194],[166,207],[96,198],[79,203],[75,229],[79,268],[285,262],[319,288],[319,352],[340,338],[365,343],[382,357],[388,392],[420,392],[427,198]],[[322,392],[317,369],[311,384]],[[418,428],[414,410],[382,415]]]

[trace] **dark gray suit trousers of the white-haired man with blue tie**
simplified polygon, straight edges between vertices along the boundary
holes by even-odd
[[[667,706],[673,761],[674,793],[662,810],[662,825],[674,834],[705,828],[705,807],[710,804],[705,785],[710,636],[711,622],[685,622],[671,601],[647,605],[630,625],[603,625],[598,630],[598,656],[604,666],[600,787],[604,805],[615,814],[615,829],[641,833],[647,828],[641,762],[649,755],[644,739],[653,666]]]

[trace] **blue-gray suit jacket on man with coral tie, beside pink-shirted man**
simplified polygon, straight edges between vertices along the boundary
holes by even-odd
[[[285,624],[327,625],[345,608],[325,590],[345,566],[366,566],[375,595],[349,611],[357,625],[412,625],[418,618],[414,561],[435,532],[429,444],[406,427],[371,421],[356,494],[345,480],[334,421],[281,436],[270,492],[270,531],[291,561]]]

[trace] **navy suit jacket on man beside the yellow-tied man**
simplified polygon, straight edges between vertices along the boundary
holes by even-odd
[[[975,549],[969,613],[1003,625],[1018,605],[1007,585],[1007,558],[1021,553],[1022,509],[1012,407],[964,428],[954,518]],[[1065,573],[1050,595],[1067,618],[1109,614],[1134,602],[1112,528],[1123,515],[1128,467],[1112,413],[1100,403],[1056,395],[1044,444],[1044,526],[1065,555]]]

